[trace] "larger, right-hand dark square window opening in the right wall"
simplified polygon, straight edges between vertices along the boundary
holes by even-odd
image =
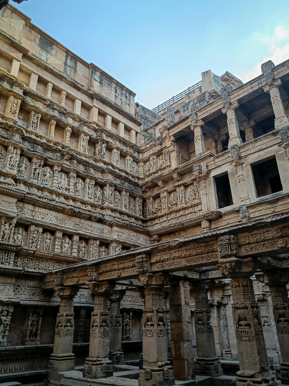
[[[257,197],[283,190],[275,156],[267,161],[252,165],[252,173]]]

